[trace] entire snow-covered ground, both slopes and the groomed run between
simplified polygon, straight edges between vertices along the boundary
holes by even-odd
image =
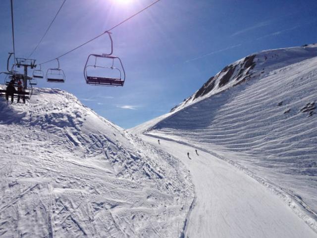
[[[61,90],[0,101],[0,237],[317,238],[316,56],[238,60],[131,134]]]

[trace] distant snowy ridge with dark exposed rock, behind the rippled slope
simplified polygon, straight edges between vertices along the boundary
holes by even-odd
[[[268,73],[287,65],[317,56],[317,44],[302,47],[266,50],[237,60],[212,76],[198,91],[171,109],[178,111],[188,105],[223,92],[228,88],[253,78],[260,79]]]

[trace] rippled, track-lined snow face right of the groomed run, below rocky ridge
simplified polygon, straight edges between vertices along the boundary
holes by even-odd
[[[238,85],[159,122],[151,133],[230,158],[317,213],[317,118],[301,112],[317,100],[315,65],[317,58],[304,60]]]

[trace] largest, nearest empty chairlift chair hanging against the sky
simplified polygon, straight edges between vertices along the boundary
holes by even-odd
[[[111,33],[110,32],[107,32],[107,33],[111,41],[111,52],[109,54],[102,54],[102,55],[97,55],[97,54],[89,55],[85,64],[85,68],[84,68],[84,77],[85,77],[86,83],[90,85],[112,86],[112,87],[123,86],[125,81],[124,67],[119,57],[112,56],[113,42],[110,35]],[[95,60],[94,65],[90,64],[91,59]],[[98,65],[99,62],[97,63],[97,59],[112,60],[112,65],[110,67]],[[114,67],[114,61],[118,61],[120,63],[120,68]],[[87,69],[90,69],[89,72]],[[111,71],[112,76],[107,75],[109,70]],[[95,71],[94,75],[91,74],[92,71]],[[97,71],[99,72],[102,71],[102,75],[100,74],[97,75],[96,74]],[[113,73],[113,72],[116,72],[116,73]]]

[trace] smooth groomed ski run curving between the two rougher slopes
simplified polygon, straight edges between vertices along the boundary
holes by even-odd
[[[142,138],[181,159],[192,175],[196,199],[183,237],[317,237],[273,191],[239,168],[201,150],[197,156],[194,147],[168,138]]]

